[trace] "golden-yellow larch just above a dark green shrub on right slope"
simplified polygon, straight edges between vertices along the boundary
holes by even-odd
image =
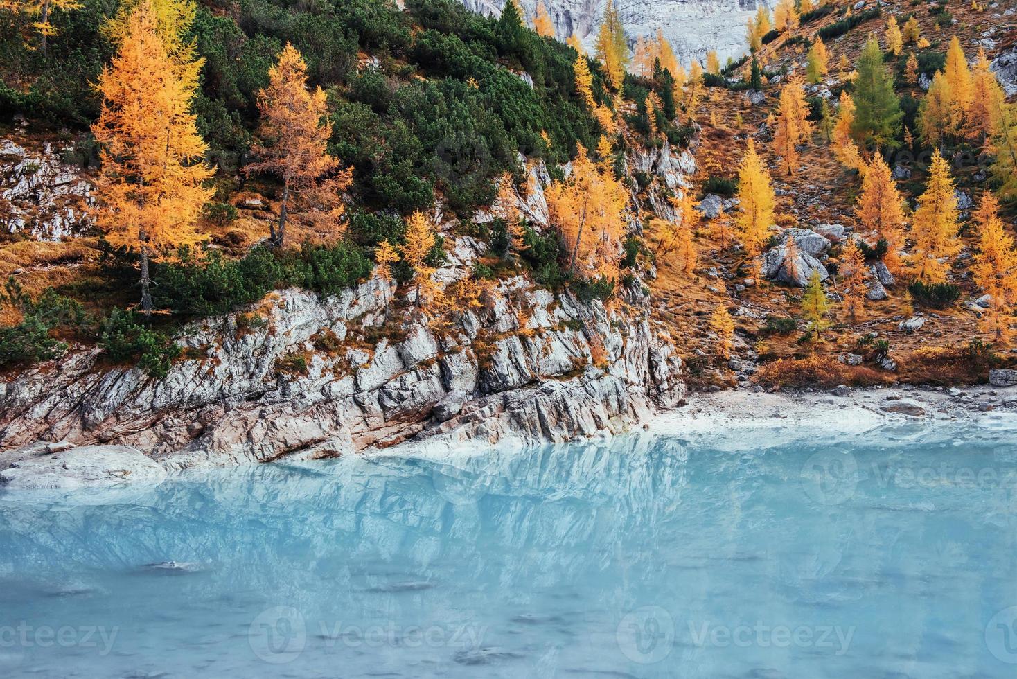
[[[939,149],[933,151],[929,183],[918,198],[918,208],[911,222],[914,254],[910,260],[922,283],[946,280],[944,259],[957,252],[957,197],[950,166]]]

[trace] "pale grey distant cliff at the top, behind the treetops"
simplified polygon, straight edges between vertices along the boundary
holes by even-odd
[[[532,20],[538,0],[521,0]],[[505,0],[463,0],[470,9],[493,16],[501,14]],[[592,48],[606,0],[544,0],[555,36],[564,41],[573,34]],[[707,50],[717,50],[723,63],[746,51],[745,20],[756,12],[755,0],[615,0],[618,17],[630,41],[656,35],[659,27],[687,65]],[[763,0],[771,8],[776,4]]]

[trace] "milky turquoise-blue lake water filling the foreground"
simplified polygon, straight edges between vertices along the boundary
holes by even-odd
[[[0,676],[1012,678],[1015,442],[634,435],[7,492]]]

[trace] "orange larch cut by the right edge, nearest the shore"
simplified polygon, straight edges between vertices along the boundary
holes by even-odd
[[[1000,204],[988,191],[974,213],[980,242],[971,273],[974,284],[990,296],[983,327],[997,341],[1006,340],[1017,305],[1017,251],[999,215]]]

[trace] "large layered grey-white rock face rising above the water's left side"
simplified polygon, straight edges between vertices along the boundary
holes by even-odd
[[[468,259],[464,249],[452,258]],[[173,470],[334,456],[415,436],[561,441],[624,430],[684,396],[680,359],[651,328],[641,293],[624,291],[625,312],[611,312],[511,279],[435,331],[423,320],[386,323],[394,291],[383,285],[326,299],[281,291],[248,310],[264,321],[256,328],[237,314],[195,324],[180,338],[189,358],[159,380],[104,368],[98,350],[37,366],[0,382],[0,449],[117,443]],[[322,336],[338,349],[319,349]],[[288,367],[295,356],[305,371]]]

